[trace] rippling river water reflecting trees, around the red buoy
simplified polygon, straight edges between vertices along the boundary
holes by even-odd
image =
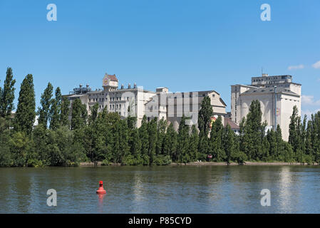
[[[48,189],[56,207],[47,205]],[[0,168],[0,213],[320,213],[320,167]]]

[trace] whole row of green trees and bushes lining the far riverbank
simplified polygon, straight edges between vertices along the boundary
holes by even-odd
[[[41,107],[36,110],[33,77],[21,83],[18,105],[14,110],[14,84],[11,68],[6,71],[0,88],[0,166],[73,166],[80,162],[102,161],[104,165],[167,165],[197,160],[214,162],[282,161],[319,162],[320,112],[301,122],[295,107],[291,116],[289,142],[282,132],[268,130],[262,123],[258,100],[249,108],[237,135],[222,118],[212,123],[210,98],[202,100],[198,126],[187,125],[182,117],[177,131],[172,123],[144,116],[140,128],[137,119],[121,119],[106,108],[98,113],[98,103],[88,115],[81,100],[63,98],[60,88],[51,83],[41,94]],[[71,113],[70,113],[71,112]],[[71,120],[68,119],[71,114]],[[38,125],[33,123],[38,115]],[[207,155],[212,155],[212,159]]]

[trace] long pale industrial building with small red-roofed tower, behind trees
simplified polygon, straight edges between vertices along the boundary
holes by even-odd
[[[74,88],[72,92],[64,96],[70,100],[70,108],[72,108],[73,100],[80,99],[81,103],[86,105],[88,115],[91,115],[91,107],[98,103],[98,112],[106,108],[108,112],[119,113],[121,118],[127,118],[129,115],[137,117],[138,128],[140,128],[143,115],[146,115],[148,120],[155,117],[163,118],[168,124],[172,123],[177,130],[182,115],[190,117],[187,124],[197,124],[202,99],[207,95],[210,97],[215,115],[221,115],[224,118],[227,105],[215,90],[170,93],[168,88],[161,87],[153,92],[137,87],[136,84],[133,88],[130,84],[128,88],[124,88],[123,85],[119,88],[118,78],[108,73],[105,73],[103,78],[102,89],[93,91],[88,85],[86,87],[80,85],[79,88]],[[71,120],[71,112],[69,119]]]

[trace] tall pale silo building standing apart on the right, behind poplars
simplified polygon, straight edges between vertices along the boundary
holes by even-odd
[[[249,113],[252,100],[259,100],[262,121],[267,121],[268,129],[277,125],[282,129],[282,138],[289,139],[290,116],[294,105],[301,115],[301,84],[293,83],[292,76],[253,77],[251,85],[231,86],[231,118],[239,125]]]

